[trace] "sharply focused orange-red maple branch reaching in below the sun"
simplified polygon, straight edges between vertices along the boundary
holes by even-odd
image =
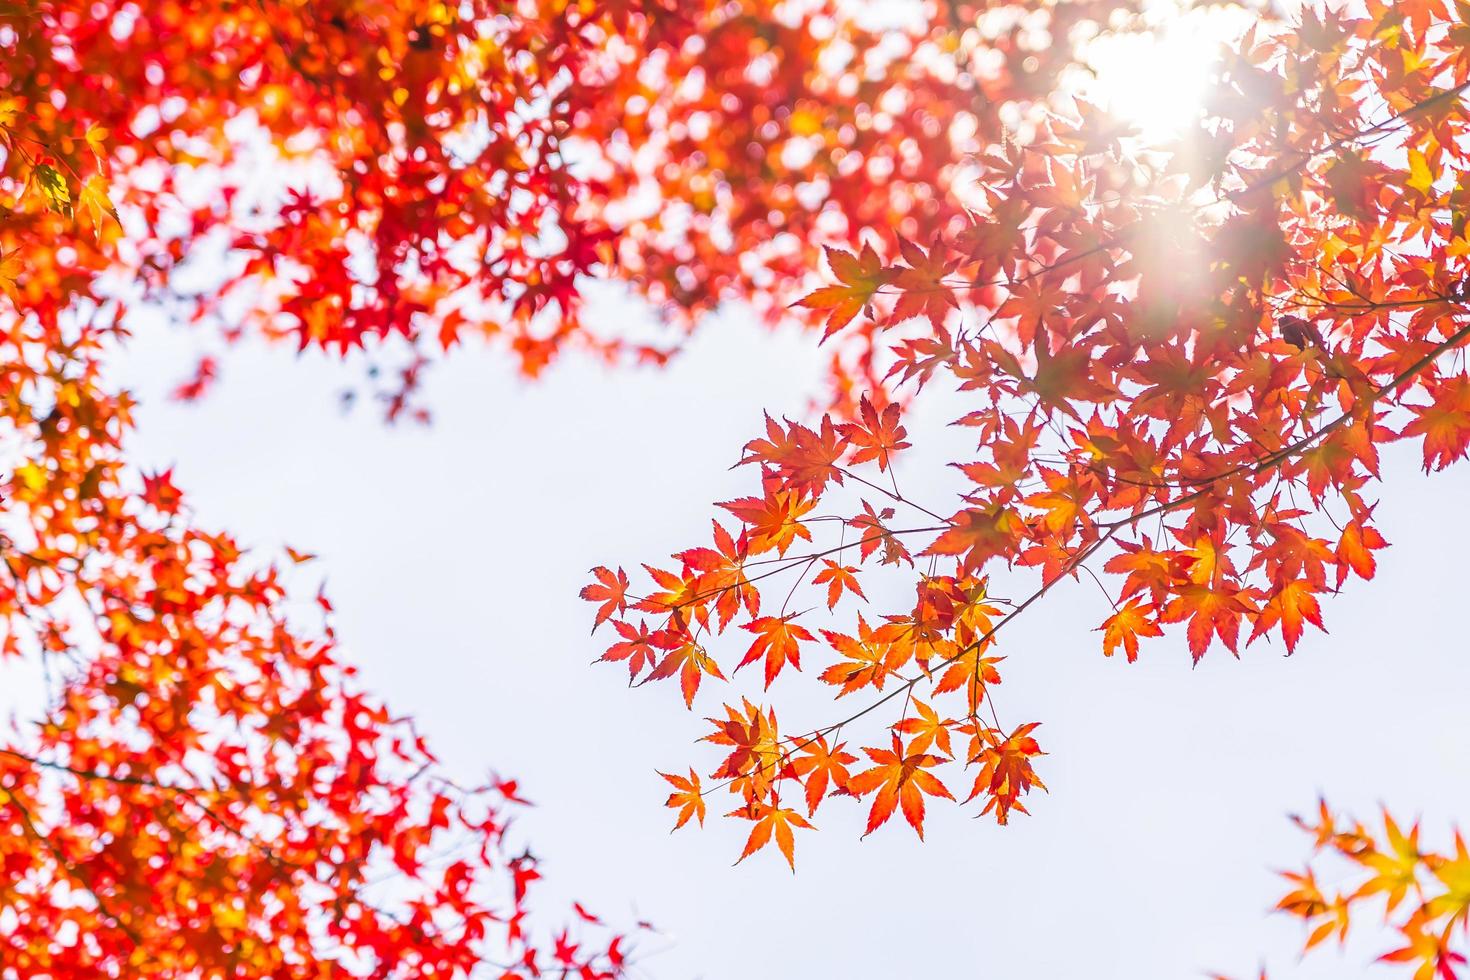
[[[1379,447],[1413,441],[1426,470],[1470,451],[1470,13],[1354,10],[1223,46],[1164,143],[1079,100],[979,154],[978,203],[826,250],[798,307],[826,341],[886,336],[881,383],[811,425],[767,419],[742,457],[760,489],[720,504],[739,525],[716,522],[713,548],[645,566],[650,589],[601,569],[617,588],[585,594],[628,641],[604,660],[638,683],[679,673],[691,707],[707,679],[738,685],[731,664],[764,666],[769,693],[709,721],[728,752],[709,783],[676,777],[681,823],[728,790],[756,821],[747,854],[775,840],[788,861],[833,796],[864,801],[869,833],[901,810],[922,836],[935,798],[1004,823],[1042,751],[1035,721],[1000,720],[997,633],[1058,582],[1101,586],[1105,655],[1180,629],[1198,661],[1291,654],[1374,574]],[[976,442],[950,504],[894,473],[903,403],[935,383],[969,401]],[[911,605],[861,608],[883,566],[907,569]],[[732,624],[744,654],[719,649]],[[767,701],[810,685],[803,666],[866,699],[779,729]]]

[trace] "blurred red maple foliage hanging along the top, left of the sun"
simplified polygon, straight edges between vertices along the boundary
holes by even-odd
[[[882,28],[863,6],[9,4],[0,204],[53,232],[74,215],[104,228],[128,295],[225,339],[395,361],[373,375],[390,417],[423,414],[423,369],[466,338],[528,375],[569,345],[662,363],[722,301],[788,316],[823,244],[957,213],[947,190],[980,135],[1073,63],[1029,35],[1141,4],[1030,0],[1022,24],[951,3]],[[0,279],[103,259],[26,248],[4,244]],[[585,325],[598,275],[679,326]],[[833,359],[835,400],[872,381],[870,341],[858,328]]]

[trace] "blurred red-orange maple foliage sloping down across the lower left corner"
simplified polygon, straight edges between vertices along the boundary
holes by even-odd
[[[0,743],[6,967],[620,976],[626,937],[600,924],[532,933],[516,783],[450,779],[359,691],[329,620],[288,617],[281,567],[197,529],[172,473],[126,467],[129,406],[96,363],[24,329],[0,339],[24,458],[4,485],[0,661],[38,660],[47,683]]]

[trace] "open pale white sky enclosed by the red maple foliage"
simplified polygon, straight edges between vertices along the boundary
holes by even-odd
[[[798,836],[792,876],[773,851],[731,867],[748,824],[713,818],[723,801],[703,832],[669,836],[654,770],[713,764],[691,742],[719,686],[691,716],[667,685],[628,691],[620,666],[589,667],[609,641],[588,638],[576,591],[592,564],[703,544],[711,502],[750,492],[753,473],[726,467],[763,408],[797,414],[816,391],[806,338],[732,313],[666,372],[573,359],[538,383],[470,347],[429,373],[428,429],[385,428],[368,406],[343,416],[335,391],[357,375],[284,347],[228,353],[203,404],[172,404],[194,339],[140,328],[121,361],[143,398],[134,460],[176,464],[201,523],[319,552],[301,591],[325,574],[368,686],[415,714],[451,770],[520,779],[538,804],[520,829],[544,860],[541,905],[653,920],[666,934],[644,940],[660,951],[650,976],[1244,977],[1263,958],[1273,977],[1402,976],[1367,965],[1386,934],[1298,962],[1298,924],[1269,915],[1273,868],[1305,858],[1285,814],[1319,790],[1363,817],[1380,799],[1423,814],[1430,842],[1470,820],[1470,469],[1424,478],[1405,447],[1386,454],[1377,513],[1395,547],[1373,583],[1324,602],[1330,636],[1308,632],[1292,658],[1258,644],[1191,670],[1176,632],[1138,664],[1108,661],[1097,588],[1058,589],[998,651],[1004,716],[1044,721],[1051,752],[1033,815],[997,827],[936,805],[926,845],[897,818],[858,840],[866,808],[832,801],[822,832]],[[938,433],[953,414],[931,404],[910,422],[906,492],[926,497],[956,458],[933,450],[953,444]],[[816,686],[810,660],[778,701]]]

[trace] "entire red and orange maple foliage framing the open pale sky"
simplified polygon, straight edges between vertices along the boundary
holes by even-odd
[[[582,591],[610,669],[701,718],[676,824],[748,821],[741,860],[794,868],[819,823],[922,837],[936,805],[1022,818],[1045,726],[1007,704],[1003,632],[1058,582],[1097,580],[1127,661],[1324,629],[1388,544],[1379,447],[1470,448],[1470,6],[1179,4],[1233,19],[1167,128],[1088,81],[1155,6],[0,4],[0,667],[47,685],[0,742],[0,964],[591,980],[637,943],[579,905],[532,926],[517,785],[454,780],[359,689],[329,599],[294,601],[310,555],[129,466],[106,363],[137,307],[216,351],[181,398],[263,335],[388,366],[388,419],[426,417],[472,339],[537,375],[662,364],[732,301],[804,325],[820,408],[731,447],[748,492],[686,548]],[[591,279],[659,329],[584,317]],[[926,386],[973,436],[925,482],[948,495],[895,472]],[[1291,876],[1307,946],[1380,902],[1386,961],[1460,976],[1463,840],[1301,823],[1361,873]]]

